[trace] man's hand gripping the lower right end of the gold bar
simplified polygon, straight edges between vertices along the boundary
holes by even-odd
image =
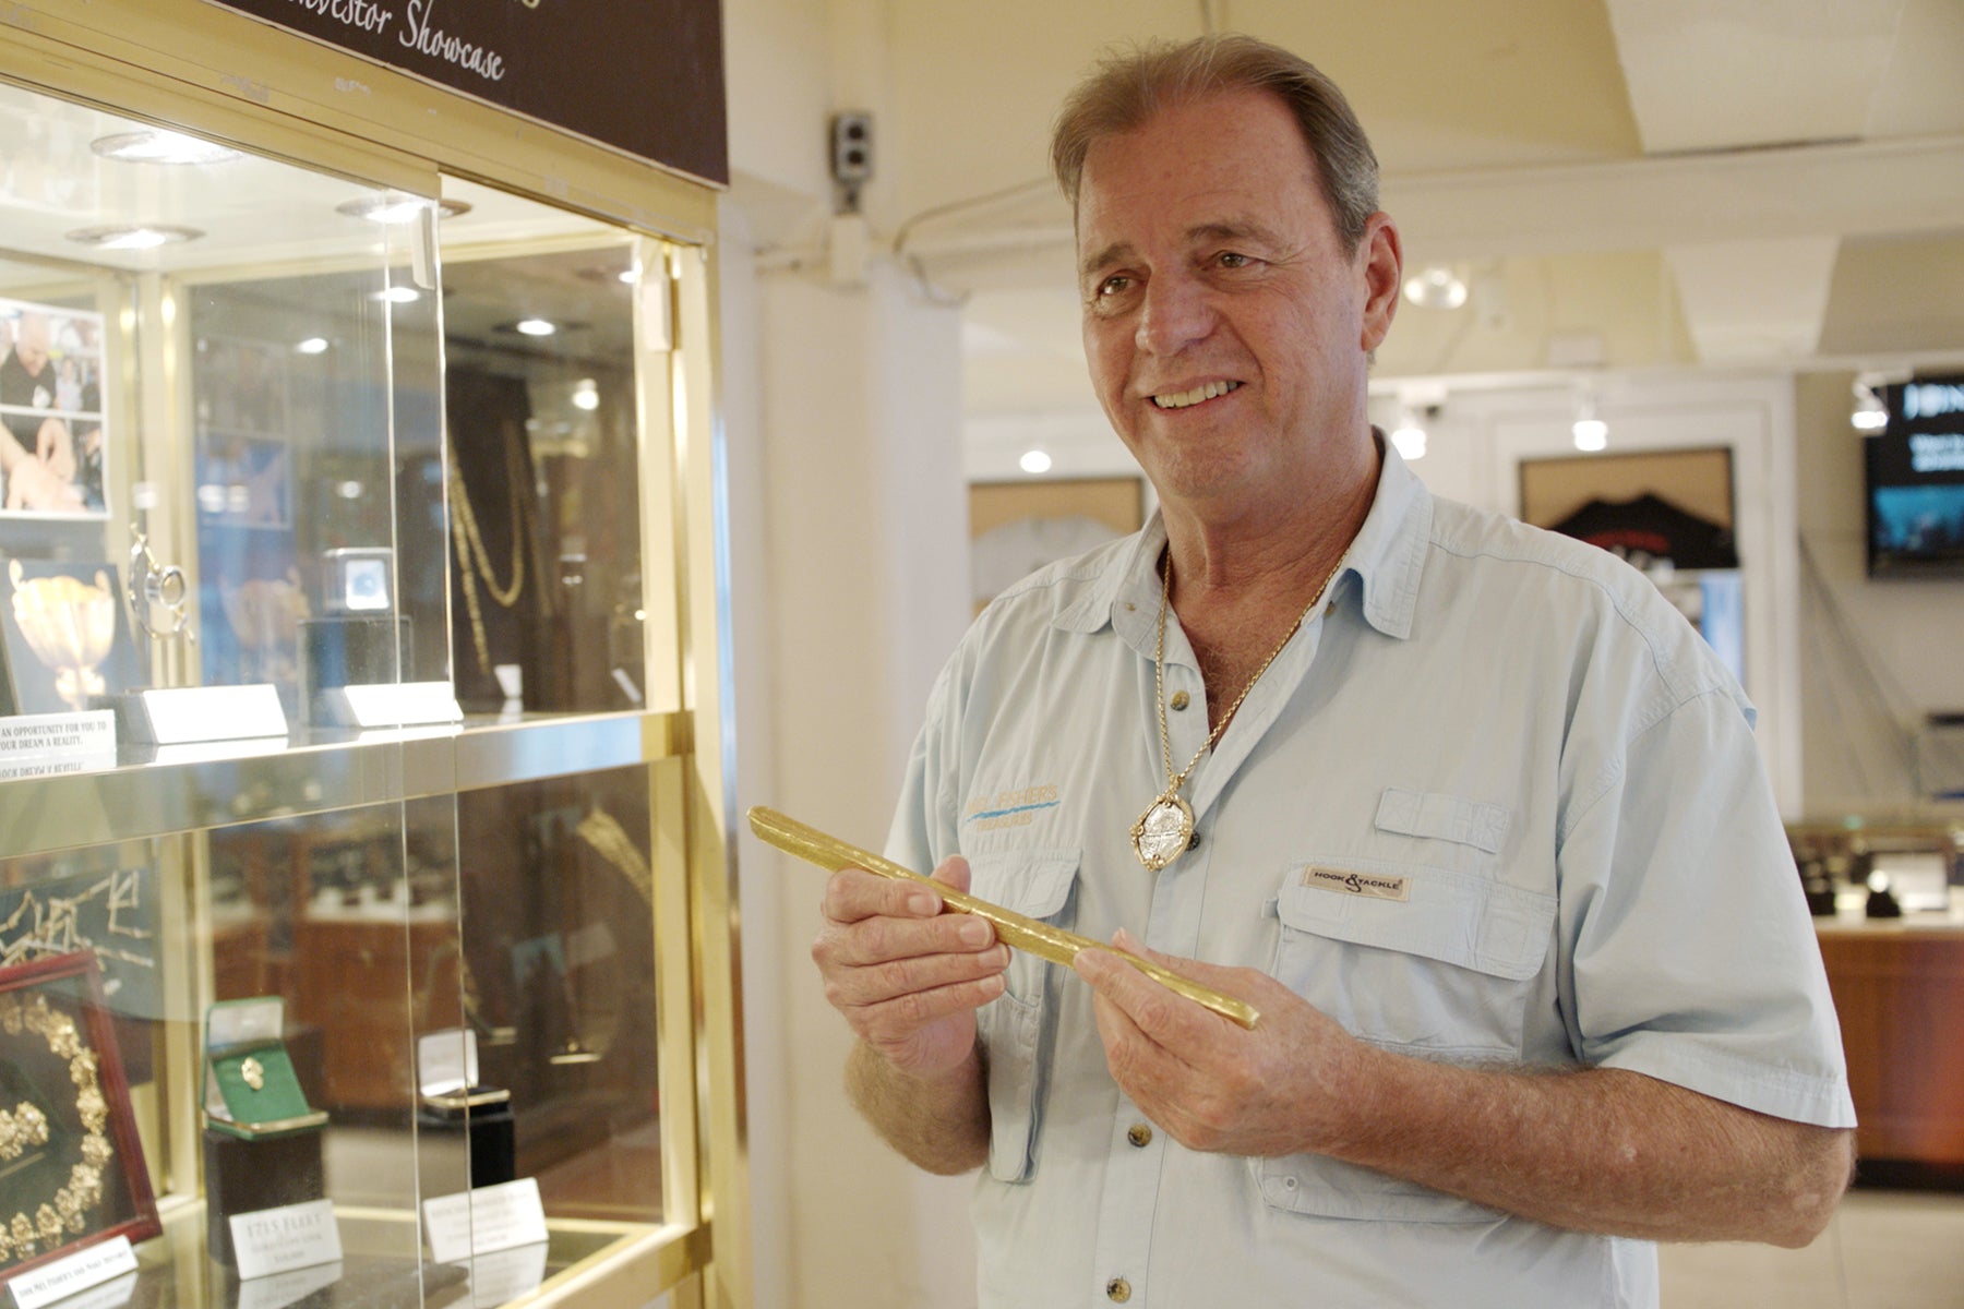
[[[1255,1030],[1174,995],[1106,950],[1078,954],[1098,993],[1098,1034],[1119,1089],[1190,1150],[1220,1154],[1330,1152],[1343,1132],[1361,1042],[1275,977],[1147,950],[1119,950],[1186,973],[1261,1011]]]

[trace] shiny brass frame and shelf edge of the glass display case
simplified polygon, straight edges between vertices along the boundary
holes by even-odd
[[[0,79],[8,82],[373,186],[434,196],[446,175],[483,183],[623,228],[634,234],[642,267],[668,271],[660,294],[670,296],[670,340],[638,343],[670,347],[666,371],[640,369],[636,396],[650,614],[646,710],[6,781],[0,797],[18,816],[0,854],[177,836],[648,763],[654,812],[683,814],[680,830],[658,826],[652,852],[658,916],[685,924],[685,932],[664,930],[658,962],[670,1211],[658,1229],[632,1236],[609,1238],[605,1225],[587,1225],[595,1227],[595,1254],[518,1303],[630,1309],[668,1295],[676,1309],[750,1305],[733,769],[719,730],[729,628],[717,599],[727,559],[717,546],[713,451],[715,188],[202,0],[6,4],[0,26],[8,29],[0,41]],[[636,314],[636,332],[642,318]],[[668,438],[672,444],[658,444]],[[196,885],[192,867],[161,871]],[[200,913],[192,895],[165,926],[194,930]],[[204,971],[208,987],[208,962]],[[194,1062],[189,1044],[171,1052],[173,1068]],[[173,1113],[169,1101],[181,1095],[181,1087],[165,1087],[165,1103],[151,1113]],[[185,1103],[191,1099],[177,1111]],[[189,1156],[191,1146],[181,1152]],[[161,1164],[167,1176],[194,1176],[189,1158]],[[412,1221],[395,1213],[348,1217]],[[181,1246],[181,1282],[196,1280],[192,1227],[167,1215],[163,1240]],[[191,1283],[181,1289],[194,1291]]]

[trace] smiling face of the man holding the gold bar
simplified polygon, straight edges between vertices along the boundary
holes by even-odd
[[[1396,308],[1398,237],[1345,253],[1302,131],[1237,90],[1096,141],[1078,188],[1084,353],[1161,498],[1300,497],[1367,449],[1365,357]]]

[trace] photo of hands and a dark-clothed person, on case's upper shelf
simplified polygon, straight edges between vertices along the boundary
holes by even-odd
[[[102,314],[0,298],[0,512],[102,518]]]

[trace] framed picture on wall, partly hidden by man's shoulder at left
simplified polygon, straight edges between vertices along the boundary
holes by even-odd
[[[968,487],[968,591],[976,612],[1045,563],[1129,536],[1145,479],[1080,477]]]

